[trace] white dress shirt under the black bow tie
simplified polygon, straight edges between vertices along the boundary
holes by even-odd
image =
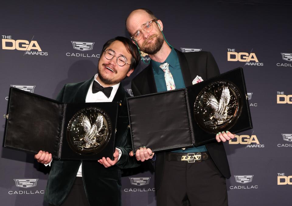
[[[93,81],[96,81],[96,77],[98,76],[98,74],[96,74],[94,76],[94,80]],[[91,82],[90,86],[89,86],[89,89],[88,89],[88,92],[87,92],[87,95],[86,95],[86,99],[85,99],[85,102],[112,102],[113,101],[113,98],[114,96],[116,95],[116,91],[118,90],[119,86],[120,86],[120,83],[116,84],[116,85],[113,85],[113,90],[112,92],[110,93],[110,96],[109,98],[107,98],[105,96],[105,94],[101,91],[97,92],[97,93],[92,93],[92,84],[93,84],[93,81]],[[99,83],[99,82],[98,82]],[[100,83],[99,83],[100,84]],[[100,84],[101,85],[101,84]],[[119,148],[116,148],[117,150],[119,150],[119,158],[118,158],[118,161],[120,159],[120,157],[122,156],[122,151],[119,149]],[[52,161],[51,161],[52,162]],[[51,166],[51,162],[49,164],[45,164],[45,166]],[[82,163],[80,164],[79,166],[79,169],[78,169],[78,172],[77,172],[77,177],[82,177]]]

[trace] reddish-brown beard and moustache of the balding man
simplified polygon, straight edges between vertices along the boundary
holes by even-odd
[[[156,37],[156,41],[147,45],[148,41],[154,39],[155,37]],[[143,42],[143,44],[140,47],[140,50],[147,54],[156,54],[161,49],[163,42],[164,42],[164,38],[162,36],[162,33],[152,34],[150,37],[148,37],[147,40]]]

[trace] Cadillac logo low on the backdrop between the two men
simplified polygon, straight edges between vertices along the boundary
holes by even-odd
[[[129,177],[131,188],[125,188],[125,192],[153,192],[155,188],[143,187],[149,184],[149,180],[151,177]],[[137,186],[137,187],[135,187]]]

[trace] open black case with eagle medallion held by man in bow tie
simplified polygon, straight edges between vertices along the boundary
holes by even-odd
[[[61,103],[11,87],[3,147],[54,159],[113,159],[118,105]]]

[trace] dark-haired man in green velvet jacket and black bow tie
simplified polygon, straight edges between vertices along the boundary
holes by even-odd
[[[65,84],[61,89],[57,100],[65,103],[120,103],[116,151],[113,154],[114,160],[103,157],[96,161],[52,161],[49,152],[40,151],[35,155],[35,159],[44,164],[52,164],[44,197],[46,202],[62,206],[121,205],[120,169],[135,167],[138,163],[129,156],[132,148],[126,104],[128,94],[120,82],[130,76],[139,61],[137,47],[125,37],[116,37],[103,46],[98,74],[85,82]]]

